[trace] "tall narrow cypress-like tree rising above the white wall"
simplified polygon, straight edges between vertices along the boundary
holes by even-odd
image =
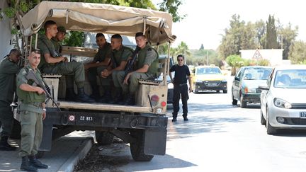
[[[277,38],[276,38],[276,25],[274,16],[268,17],[268,21],[266,22],[266,49],[277,49]]]

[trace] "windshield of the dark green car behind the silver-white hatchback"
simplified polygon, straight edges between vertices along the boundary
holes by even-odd
[[[272,69],[270,68],[248,68],[244,70],[244,80],[267,80]]]

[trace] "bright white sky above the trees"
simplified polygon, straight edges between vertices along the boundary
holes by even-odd
[[[154,4],[161,0],[153,0]],[[220,45],[225,28],[229,28],[229,20],[234,14],[240,19],[255,23],[268,21],[269,14],[283,25],[291,23],[299,27],[297,40],[306,41],[306,6],[300,0],[182,0],[179,13],[186,18],[174,23],[172,33],[176,35],[173,46],[181,41],[186,42],[189,49],[199,49],[203,44],[205,49],[216,50]]]

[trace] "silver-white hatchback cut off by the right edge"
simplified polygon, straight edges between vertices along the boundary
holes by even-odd
[[[276,67],[261,88],[261,124],[278,129],[306,129],[306,65]]]

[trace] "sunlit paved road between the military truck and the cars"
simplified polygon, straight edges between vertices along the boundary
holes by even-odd
[[[188,122],[171,122],[169,108],[165,156],[135,162],[128,145],[101,147],[101,171],[305,171],[306,132],[268,135],[259,105],[239,108],[230,95],[191,93]]]

